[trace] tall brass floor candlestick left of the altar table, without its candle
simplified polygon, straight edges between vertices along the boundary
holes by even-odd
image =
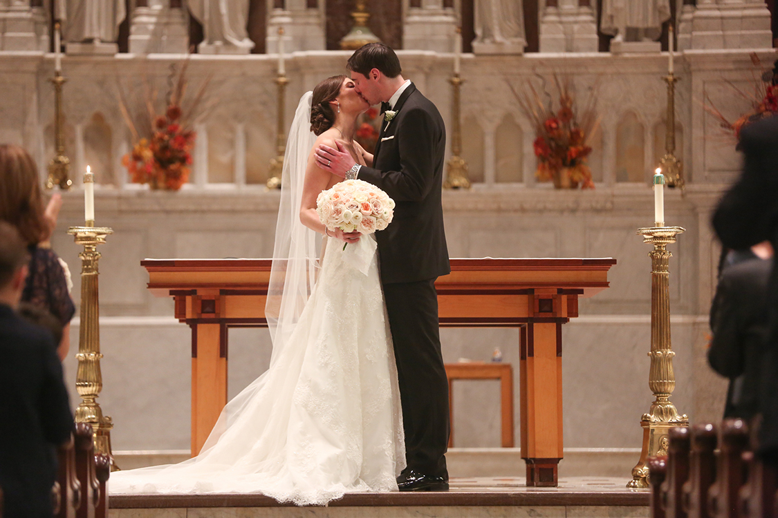
[[[114,231],[107,227],[95,227],[94,221],[87,221],[85,227],[68,228],[68,234],[73,235],[77,245],[83,245],[81,258],[81,325],[79,329],[79,368],[75,375],[75,390],[81,396],[81,403],[75,409],[75,422],[86,422],[92,425],[96,453],[110,457],[111,468],[118,469],[114,464],[114,455],[110,449],[110,430],[114,423],[110,417],[103,415],[97,396],[103,389],[103,376],[100,373],[100,303],[98,300],[97,262],[100,252],[97,245],[105,242],[105,238]]]

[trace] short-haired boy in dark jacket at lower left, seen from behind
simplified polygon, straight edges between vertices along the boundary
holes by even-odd
[[[0,221],[0,488],[4,518],[51,518],[55,447],[73,416],[54,338],[14,312],[25,285],[26,244]]]

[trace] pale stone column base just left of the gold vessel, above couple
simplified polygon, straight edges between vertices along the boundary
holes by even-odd
[[[324,0],[275,0],[268,18],[265,48],[279,51],[279,27],[284,30],[284,52],[325,50]]]

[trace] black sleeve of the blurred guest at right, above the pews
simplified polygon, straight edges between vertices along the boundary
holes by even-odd
[[[708,349],[708,363],[717,373],[729,378],[738,377],[744,370],[744,345],[738,322],[741,316],[738,309],[741,304],[737,300],[737,287],[731,284],[731,279],[722,277],[714,297],[711,329],[713,339]]]

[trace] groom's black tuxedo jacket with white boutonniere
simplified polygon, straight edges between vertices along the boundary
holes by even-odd
[[[391,224],[376,232],[384,284],[450,272],[441,204],[443,118],[413,84],[402,92],[394,111],[388,127],[381,123],[373,167],[359,169],[359,179],[383,189],[396,203]]]

